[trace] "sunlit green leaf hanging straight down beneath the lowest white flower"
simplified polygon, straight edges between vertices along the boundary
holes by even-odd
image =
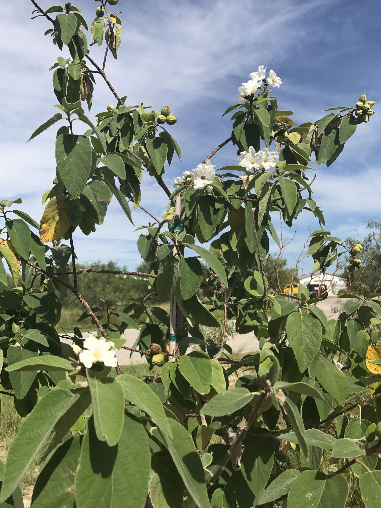
[[[97,379],[90,369],[86,369],[86,374],[98,439],[106,441],[110,447],[113,447],[119,441],[124,422],[122,387],[115,378]]]

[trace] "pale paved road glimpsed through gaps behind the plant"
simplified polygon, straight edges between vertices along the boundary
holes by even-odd
[[[327,300],[319,302],[317,306],[323,310],[328,319],[337,319],[337,316],[342,311],[340,309],[342,309],[345,301],[346,299],[342,298],[328,298]],[[84,337],[87,336],[87,334],[83,335]],[[125,345],[132,347],[138,335],[139,335],[138,330],[133,329],[126,330],[125,333],[122,335],[122,337],[126,339]],[[242,355],[244,353],[259,350],[258,340],[254,336],[253,332],[246,333],[244,335],[237,334],[235,335],[235,337],[229,338],[227,343],[232,347],[232,350],[235,353],[239,352],[242,353]],[[139,353],[133,353],[130,359],[130,352],[126,350],[118,351],[116,357],[118,359],[119,365],[131,365],[145,362],[145,359],[141,358]]]

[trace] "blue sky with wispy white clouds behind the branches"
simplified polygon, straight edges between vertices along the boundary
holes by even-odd
[[[42,8],[51,2],[40,0]],[[77,0],[91,23],[97,4]],[[42,193],[55,176],[55,128],[26,144],[35,128],[56,112],[56,98],[49,68],[61,53],[44,31],[44,18],[30,20],[33,5],[18,0],[2,6],[3,77],[2,98],[2,184],[0,198],[21,197],[23,209],[39,221],[43,212]],[[182,151],[182,164],[174,161],[164,179],[172,186],[173,177],[189,171],[230,136],[230,115],[225,109],[237,102],[237,89],[259,65],[274,69],[283,84],[275,88],[279,109],[294,111],[296,123],[315,121],[330,106],[353,106],[361,93],[376,101],[376,114],[361,124],[330,167],[316,167],[314,199],[321,206],[334,236],[359,237],[366,234],[365,220],[381,218],[379,192],[379,129],[381,127],[378,26],[381,7],[377,0],[366,4],[347,0],[317,2],[127,2],[118,10],[123,23],[118,60],[111,56],[106,74],[126,104],[168,104],[178,118],[171,128]],[[103,60],[104,48],[91,47],[92,57]],[[91,113],[103,111],[115,100],[96,75]],[[91,117],[90,113],[90,117]],[[85,129],[76,126],[78,133]],[[228,145],[212,159],[216,169],[237,163],[236,149]],[[162,189],[147,174],[142,182],[142,206],[161,216],[167,206]],[[147,223],[141,210],[133,212],[135,226]],[[277,217],[273,217],[278,224]],[[295,263],[307,228],[318,229],[312,214],[305,212],[297,221],[298,230],[285,251],[289,265]],[[104,225],[89,237],[75,232],[80,262],[110,259],[129,269],[140,257],[136,240],[140,232],[111,202]],[[295,227],[283,227],[290,239]],[[277,254],[275,243],[270,251]],[[310,258],[301,271],[310,271]]]

